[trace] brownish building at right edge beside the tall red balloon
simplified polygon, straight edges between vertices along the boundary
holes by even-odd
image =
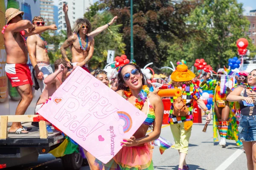
[[[253,42],[253,45],[256,46],[256,10],[250,11],[250,16],[246,16],[247,19],[250,21],[249,31],[247,35]]]

